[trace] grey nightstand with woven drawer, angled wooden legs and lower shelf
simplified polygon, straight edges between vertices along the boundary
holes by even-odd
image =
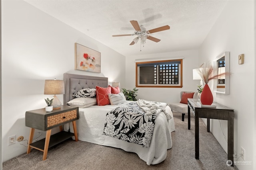
[[[46,160],[48,148],[52,147],[72,136],[75,136],[75,141],[78,141],[76,131],[76,120],[78,119],[78,107],[61,106],[60,109],[46,112],[45,108],[26,111],[25,125],[31,127],[28,140],[27,154],[31,148],[44,152],[43,160]],[[62,125],[72,122],[74,133],[63,131]],[[60,132],[51,136],[52,128],[60,127]],[[46,131],[46,138],[32,143],[35,129]]]

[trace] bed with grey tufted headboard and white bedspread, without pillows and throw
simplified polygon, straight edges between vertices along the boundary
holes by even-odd
[[[107,87],[108,78],[96,76],[84,76],[78,74],[64,74],[65,94],[64,104],[74,99],[72,94],[84,88],[95,88],[95,86]],[[135,143],[129,143],[114,137],[102,135],[106,113],[115,109],[118,105],[90,106],[79,108],[79,119],[76,121],[78,140],[115,147],[127,152],[136,153],[146,164],[158,164],[165,160],[167,150],[172,148],[171,132],[175,131],[173,118],[167,120],[166,114],[162,111],[156,117],[154,131],[151,137],[150,146],[142,147]],[[172,115],[169,106],[166,111]],[[70,124],[72,132],[72,123]]]

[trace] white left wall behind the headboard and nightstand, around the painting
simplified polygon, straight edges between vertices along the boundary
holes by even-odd
[[[102,73],[74,70],[75,43],[101,52]],[[43,94],[44,80],[63,80],[65,72],[104,76],[110,84],[118,81],[122,86],[125,57],[24,1],[2,1],[3,161],[26,152],[20,143],[8,146],[8,137],[28,139],[25,112],[45,107],[44,98],[51,96]],[[58,98],[63,102],[63,95]]]

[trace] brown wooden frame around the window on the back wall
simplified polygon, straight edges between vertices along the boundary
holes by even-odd
[[[156,84],[156,85],[152,85],[152,84],[149,84],[149,85],[145,85],[145,84],[143,84],[143,85],[140,85],[140,84],[138,84],[138,82],[139,82],[139,71],[138,71],[138,64],[148,64],[148,63],[163,63],[163,62],[166,62],[166,63],[168,63],[168,62],[175,62],[175,61],[177,61],[177,62],[180,62],[180,70],[179,70],[179,75],[180,75],[180,84],[178,84],[178,85],[174,85],[174,84]],[[182,88],[182,80],[183,80],[183,78],[182,78],[182,75],[183,75],[183,73],[182,73],[182,68],[183,68],[183,64],[182,64],[182,61],[183,61],[183,59],[174,59],[174,60],[162,60],[162,61],[145,61],[145,62],[136,62],[136,87],[150,87],[150,88]]]

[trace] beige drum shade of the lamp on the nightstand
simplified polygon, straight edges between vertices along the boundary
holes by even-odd
[[[65,94],[64,80],[45,80],[44,94]]]

